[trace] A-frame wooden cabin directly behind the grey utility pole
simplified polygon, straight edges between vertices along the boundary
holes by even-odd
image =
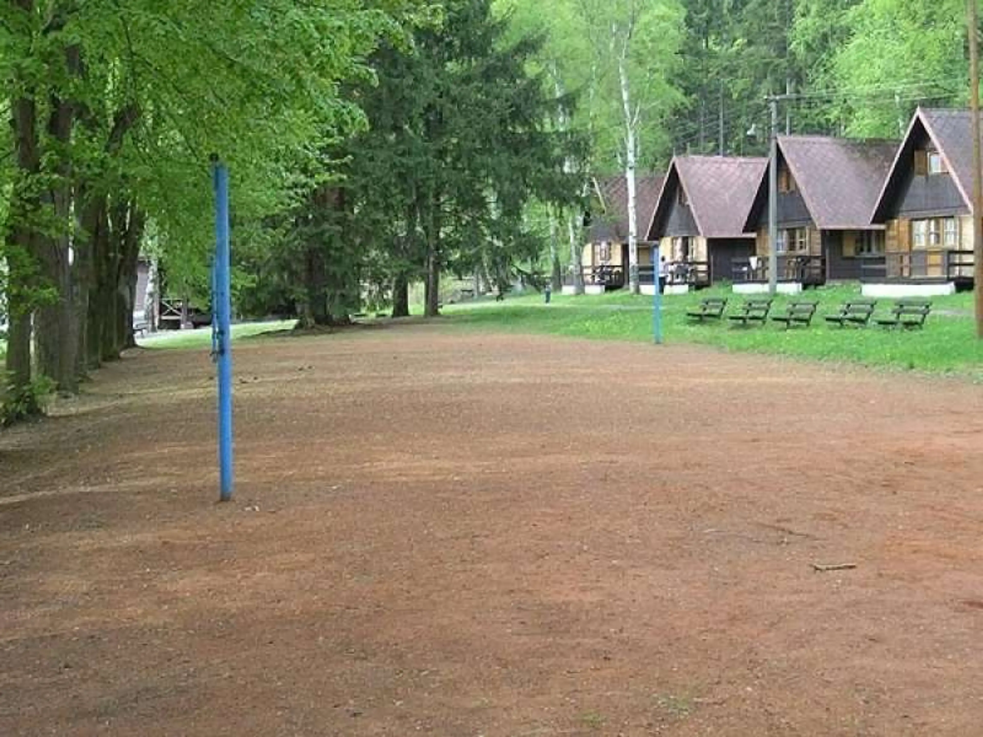
[[[883,258],[885,228],[871,223],[870,212],[896,149],[897,142],[779,137],[779,282],[857,280]],[[768,281],[770,176],[766,166],[745,222],[756,234],[756,257],[735,266],[737,281]]]

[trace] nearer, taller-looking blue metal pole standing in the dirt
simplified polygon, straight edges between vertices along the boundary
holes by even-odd
[[[232,498],[232,295],[229,277],[229,170],[217,159],[212,174],[215,188],[214,291],[211,309],[215,320],[218,363],[218,474],[219,499]]]

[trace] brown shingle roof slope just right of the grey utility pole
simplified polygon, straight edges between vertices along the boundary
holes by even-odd
[[[897,142],[781,136],[779,147],[818,228],[870,227]]]

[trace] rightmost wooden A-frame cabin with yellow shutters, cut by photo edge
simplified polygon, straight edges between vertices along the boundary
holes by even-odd
[[[972,131],[966,110],[919,108],[873,208],[885,253],[871,295],[949,294],[973,286]]]

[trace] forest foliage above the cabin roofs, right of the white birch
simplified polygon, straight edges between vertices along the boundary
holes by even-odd
[[[765,96],[790,93],[780,130],[898,136],[918,105],[964,104],[965,8],[959,0],[684,0],[667,122],[677,152],[767,150]],[[723,118],[723,120],[722,120]],[[752,135],[748,135],[751,132]]]

